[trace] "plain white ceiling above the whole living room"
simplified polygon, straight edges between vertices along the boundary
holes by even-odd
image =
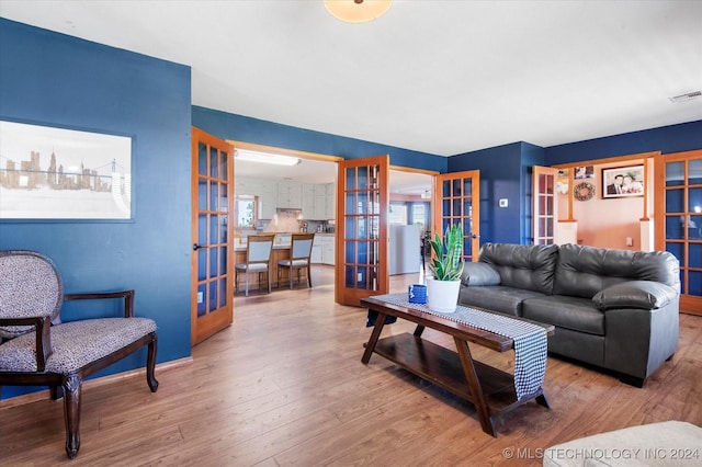
[[[702,119],[702,1],[0,0],[0,15],[192,67],[195,105],[451,156]],[[264,141],[263,141],[264,143]]]

